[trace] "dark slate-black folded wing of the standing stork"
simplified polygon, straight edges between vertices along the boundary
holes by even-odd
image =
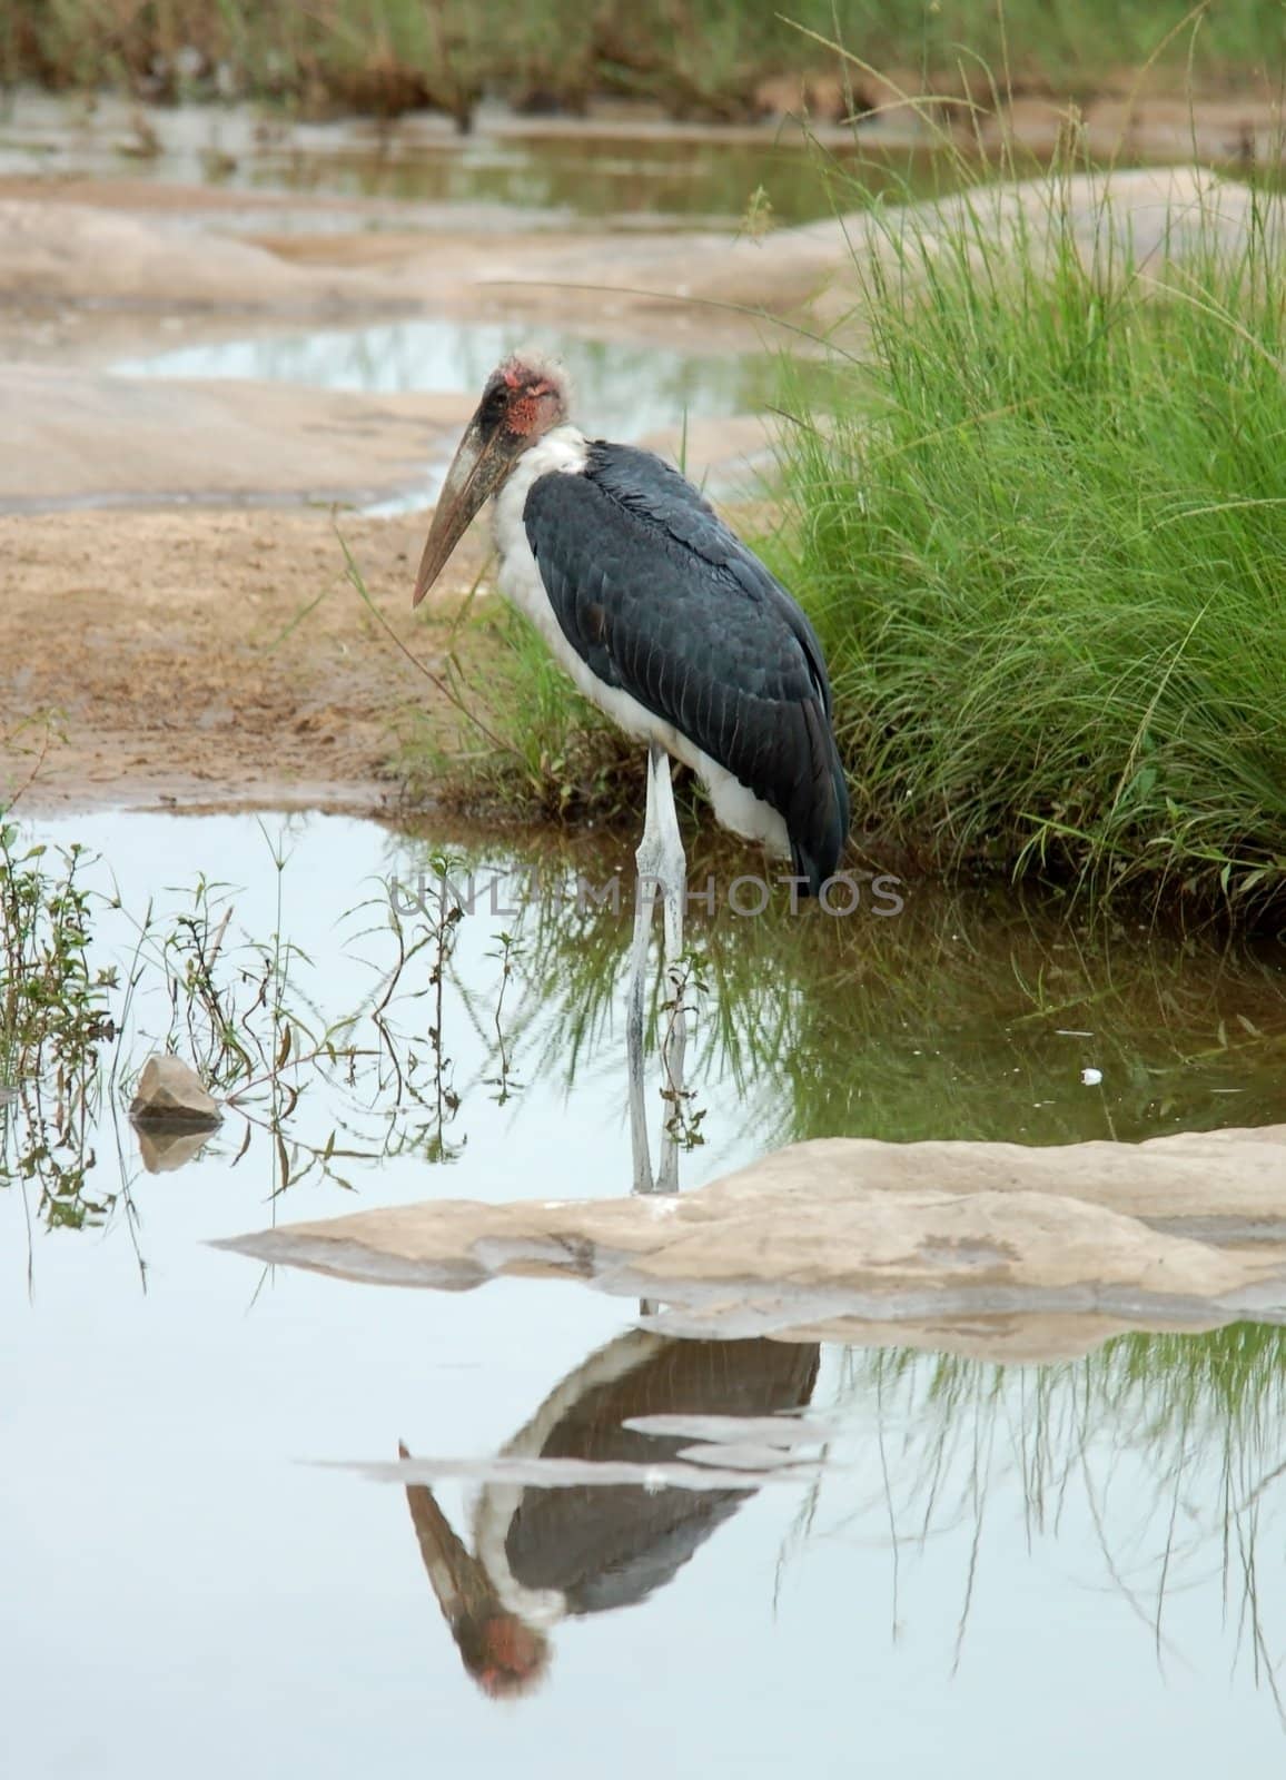
[[[533,482],[527,539],[593,673],[671,723],[784,821],[810,890],[848,837],[848,787],[812,625],[677,470],[590,445]]]

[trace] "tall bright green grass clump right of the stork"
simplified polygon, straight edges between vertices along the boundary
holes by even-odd
[[[1281,242],[1258,206],[1145,279],[1083,262],[1070,192],[1005,247],[985,192],[935,244],[876,219],[862,358],[785,436],[791,578],[859,824],[1250,915],[1286,895]]]

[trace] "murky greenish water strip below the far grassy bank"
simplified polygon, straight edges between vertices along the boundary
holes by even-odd
[[[864,128],[860,148],[846,132],[823,128],[823,150],[807,146],[798,130],[771,125],[565,132],[495,107],[483,109],[467,137],[435,116],[406,117],[383,132],[363,119],[265,125],[235,107],[160,109],[148,119],[159,151],[139,155],[132,153],[137,132],[128,107],[103,100],[91,116],[20,94],[0,121],[0,171],[212,183],[244,192],[248,206],[260,192],[379,199],[395,215],[367,212],[349,226],[501,230],[515,217],[524,228],[727,228],[746,215],[757,192],[775,221],[809,222],[830,215],[835,201],[851,206],[875,192],[926,196],[944,180],[942,157],[917,146],[914,132],[899,137],[878,123]],[[819,167],[834,173],[835,198]],[[310,226],[308,212],[292,221]],[[265,226],[283,226],[280,210]]]

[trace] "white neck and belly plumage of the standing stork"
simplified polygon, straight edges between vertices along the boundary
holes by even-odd
[[[695,748],[671,723],[657,717],[620,687],[604,685],[581,660],[549,603],[545,582],[522,523],[522,509],[531,484],[550,472],[575,475],[586,463],[584,434],[575,427],[556,427],[531,450],[524,452],[493,502],[495,546],[501,555],[499,587],[518,611],[525,612],[549,644],[554,660],[575,685],[627,735],[643,742],[657,742],[675,760],[682,760],[705,785],[716,819],[743,840],[759,840],[773,853],[789,856],[791,842],[784,819],[762,797],[734,778],[718,760]]]

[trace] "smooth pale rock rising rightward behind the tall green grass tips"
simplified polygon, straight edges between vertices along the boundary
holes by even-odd
[[[1165,279],[1177,263],[1199,260],[1211,247],[1245,240],[1258,205],[1265,240],[1282,237],[1282,203],[1256,199],[1247,185],[1220,180],[1201,167],[1129,167],[1083,173],[1051,185],[1046,178],[997,182],[953,198],[885,206],[880,215],[848,215],[753,239],[712,231],[577,240],[518,239],[413,255],[399,265],[370,269],[387,294],[481,313],[522,313],[565,326],[568,317],[597,329],[652,324],[668,338],[675,329],[709,328],[718,315],[728,342],[755,331],[753,313],[812,315],[834,324],[860,320],[857,267],[899,262],[914,285],[939,246],[965,226],[983,244],[992,265],[1022,242],[1037,263],[1058,249],[1067,228],[1076,251],[1095,274],[1120,276],[1127,265]],[[1017,262],[1015,262],[1017,263]],[[714,308],[712,308],[714,304]],[[721,308],[727,306],[727,308]],[[739,310],[752,312],[750,315]]]

